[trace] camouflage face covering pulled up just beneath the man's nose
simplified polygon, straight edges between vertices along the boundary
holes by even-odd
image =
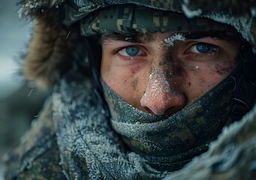
[[[111,124],[131,151],[142,155],[159,171],[180,169],[208,149],[221,129],[230,123],[230,99],[235,80],[227,77],[179,112],[167,116],[137,110],[101,84],[111,114]]]

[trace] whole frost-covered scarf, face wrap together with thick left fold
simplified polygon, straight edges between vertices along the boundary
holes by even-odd
[[[67,74],[53,92],[63,172],[68,179],[164,178],[218,136],[227,123],[233,86],[233,78],[227,78],[170,118],[141,113],[106,89],[115,105],[110,105],[111,123],[120,138],[95,100],[91,82]]]

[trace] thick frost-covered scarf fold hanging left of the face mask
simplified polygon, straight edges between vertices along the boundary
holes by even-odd
[[[65,74],[53,91],[53,121],[67,179],[161,179],[113,130],[84,74]]]

